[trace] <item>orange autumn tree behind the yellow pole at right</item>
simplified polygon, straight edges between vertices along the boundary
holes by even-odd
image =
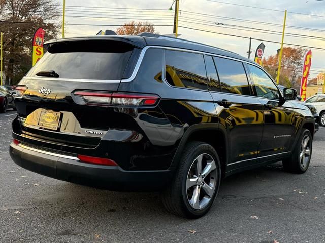
[[[286,87],[299,89],[300,82],[297,82],[301,76],[305,49],[284,47],[282,53],[282,64],[279,83]],[[276,79],[278,69],[278,55],[274,54],[263,58],[263,67]]]

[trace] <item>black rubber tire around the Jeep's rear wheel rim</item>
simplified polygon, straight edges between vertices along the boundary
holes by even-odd
[[[187,189],[186,188],[187,182],[190,179],[188,177],[193,177],[193,175],[190,175],[190,173],[192,172],[193,167],[195,167],[195,171],[197,170],[196,164],[194,165],[194,163],[197,163],[195,161],[198,161],[197,159],[200,156],[202,156],[202,160],[201,160],[202,163],[200,163],[202,165],[202,167],[201,167],[202,175],[200,173],[202,179],[200,179],[200,181],[199,181],[199,177],[196,177],[196,178],[198,178],[198,180],[196,182],[194,182],[194,183],[200,183],[200,185],[196,184],[196,185],[191,186]],[[211,159],[208,160],[208,158],[212,158],[214,161]],[[211,172],[207,173],[206,174],[207,176],[205,177],[204,169],[207,168],[208,163],[209,163],[209,165],[211,165],[213,162],[215,162],[214,163],[215,169],[213,169],[213,170],[211,170]],[[219,160],[218,154],[211,145],[209,145],[207,143],[203,143],[203,142],[198,142],[198,141],[189,142],[185,146],[185,148],[182,152],[182,157],[180,159],[178,169],[176,171],[175,177],[174,177],[170,187],[162,193],[162,199],[163,199],[163,203],[164,203],[166,209],[175,215],[190,218],[190,219],[200,218],[203,215],[205,215],[209,211],[211,206],[213,205],[215,198],[219,191],[220,178],[221,178],[221,169],[220,168],[221,167],[220,167],[220,160]],[[195,177],[195,175],[194,175],[194,177]],[[194,177],[192,178],[192,180],[196,179]],[[211,181],[212,181],[212,184],[211,184]],[[206,187],[206,185],[204,186],[205,183],[209,184],[209,186],[214,185],[209,188],[209,189],[211,189],[211,188],[214,189],[214,192],[213,193],[211,192],[212,196],[209,196],[206,193],[207,187]],[[202,192],[200,192],[201,187],[203,188]],[[200,198],[200,197],[203,198],[203,196],[205,196],[209,200],[208,203],[206,203],[204,201],[204,203],[206,203],[206,204],[204,205],[204,207],[202,207],[202,209],[194,209],[193,208],[194,206],[191,206],[190,199],[188,198],[188,193],[190,193],[190,190],[192,188],[194,188],[193,190],[198,189],[199,196],[197,198]],[[192,192],[192,194],[194,194],[194,192]],[[194,198],[194,195],[192,195],[191,199],[193,199],[193,198]],[[200,200],[199,200],[199,202],[200,202]]]

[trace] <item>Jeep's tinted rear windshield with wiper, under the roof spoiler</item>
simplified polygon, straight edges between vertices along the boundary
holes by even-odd
[[[132,52],[131,44],[120,41],[55,43],[26,76],[54,70],[59,78],[120,80]]]

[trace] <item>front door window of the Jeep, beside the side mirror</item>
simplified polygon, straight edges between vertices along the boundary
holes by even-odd
[[[248,65],[253,82],[253,89],[258,97],[279,99],[279,90],[272,79],[260,68]]]

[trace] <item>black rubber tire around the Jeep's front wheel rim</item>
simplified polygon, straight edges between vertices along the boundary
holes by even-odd
[[[308,144],[306,148],[303,148],[303,140],[308,137]],[[298,141],[297,145],[291,154],[291,156],[282,161],[282,165],[285,171],[291,173],[302,174],[305,173],[309,167],[311,154],[312,154],[312,136],[308,129],[303,129]],[[309,150],[309,155],[305,153]],[[303,157],[301,154],[303,153]]]

